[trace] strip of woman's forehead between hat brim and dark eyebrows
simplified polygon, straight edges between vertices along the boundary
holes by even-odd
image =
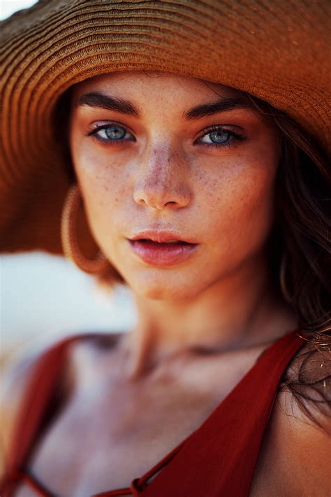
[[[191,78],[190,76],[178,75],[163,71],[117,71],[94,78],[84,80],[73,88],[76,97],[91,91],[121,92],[126,94],[150,95],[154,92],[161,96],[165,94],[181,94],[184,97],[190,96],[235,96],[237,90],[234,88],[214,83],[210,81]]]

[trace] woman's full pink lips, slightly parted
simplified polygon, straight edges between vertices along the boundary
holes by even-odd
[[[178,240],[179,243],[165,243]],[[186,261],[198,248],[187,238],[174,231],[142,231],[128,239],[131,250],[146,264],[173,266]]]

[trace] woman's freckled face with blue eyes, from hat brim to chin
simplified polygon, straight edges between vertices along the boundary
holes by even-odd
[[[230,87],[152,71],[75,87],[70,146],[84,208],[135,293],[191,298],[263,249],[279,136],[235,97]]]

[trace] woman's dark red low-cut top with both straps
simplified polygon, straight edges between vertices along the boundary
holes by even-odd
[[[68,345],[91,336],[100,335],[66,338],[38,360],[22,402],[6,475],[1,483],[1,496],[14,496],[17,486],[24,482],[34,489],[36,496],[52,497],[52,492],[31,477],[25,468],[38,442],[47,406],[56,391]],[[300,337],[298,330],[276,340],[206,421],[156,466],[135,478],[129,488],[105,491],[94,497],[126,494],[144,497],[248,496],[279,380],[304,343],[306,340]],[[153,476],[152,482],[147,484]]]

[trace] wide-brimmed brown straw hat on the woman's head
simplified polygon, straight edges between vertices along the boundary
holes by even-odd
[[[54,108],[101,73],[154,69],[242,89],[331,154],[330,10],[327,0],[41,0],[3,21],[1,252],[63,253],[72,168]]]

